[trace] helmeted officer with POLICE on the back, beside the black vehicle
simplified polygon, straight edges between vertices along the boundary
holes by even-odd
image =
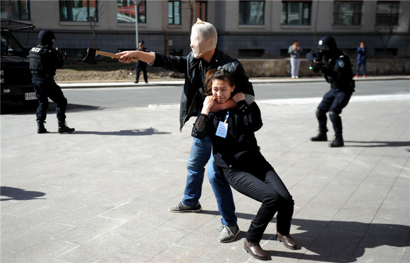
[[[44,127],[49,106],[48,98],[57,103],[58,133],[72,133],[74,128],[69,128],[66,124],[67,99],[54,82],[55,71],[57,68],[63,68],[65,55],[52,48],[55,36],[51,30],[40,31],[38,39],[39,44],[29,52],[31,79],[39,104],[37,133],[48,132]]]

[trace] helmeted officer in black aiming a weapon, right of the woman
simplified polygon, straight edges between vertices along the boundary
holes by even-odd
[[[306,58],[316,63],[331,89],[324,96],[316,110],[316,117],[319,121],[319,133],[311,137],[311,141],[327,141],[327,117],[333,124],[335,139],[329,143],[330,147],[344,146],[342,137],[342,119],[340,114],[347,105],[352,93],[355,91],[355,81],[353,80],[352,65],[345,53],[337,48],[336,40],[332,36],[325,36],[319,40],[318,49],[320,53],[308,53]]]

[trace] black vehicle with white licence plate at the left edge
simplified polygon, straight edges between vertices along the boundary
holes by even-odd
[[[1,101],[38,105],[29,69],[29,50],[11,32],[33,29],[35,26],[16,21],[1,21]]]

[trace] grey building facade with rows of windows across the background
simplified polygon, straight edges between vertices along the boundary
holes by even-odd
[[[70,57],[84,57],[88,47],[135,50],[136,13],[138,39],[149,50],[172,55],[191,51],[197,17],[216,27],[217,48],[238,58],[288,57],[294,39],[313,51],[325,35],[350,55],[362,40],[374,58],[410,55],[410,1],[1,1],[2,20],[36,27],[28,39],[27,32],[16,32],[20,42],[35,46],[38,32],[50,29],[55,47]]]

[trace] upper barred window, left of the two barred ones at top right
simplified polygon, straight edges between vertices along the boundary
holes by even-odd
[[[333,25],[361,25],[362,1],[335,1],[333,3]]]

